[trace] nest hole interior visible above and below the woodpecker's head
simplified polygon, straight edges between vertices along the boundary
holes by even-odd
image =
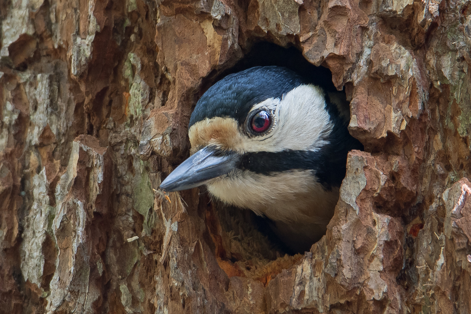
[[[321,86],[327,93],[339,93],[333,84],[332,72],[326,67],[309,63],[296,47],[283,48],[269,42],[259,42],[252,45],[232,67],[211,72],[202,81],[198,96],[201,97],[214,83],[229,74],[253,66],[268,65],[284,66]],[[345,89],[340,93],[346,100]],[[346,104],[346,110],[349,111],[348,102]],[[209,202],[206,193],[201,193],[200,198],[203,198],[200,202]],[[289,268],[302,257],[304,251],[289,250],[276,237],[268,218],[217,201],[209,203],[206,212],[207,230],[214,242],[213,249],[219,266],[230,276],[244,275],[267,284],[274,274]]]

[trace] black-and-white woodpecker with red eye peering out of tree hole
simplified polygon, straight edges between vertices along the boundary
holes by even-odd
[[[333,217],[348,152],[363,149],[338,95],[281,66],[227,75],[197,101],[191,155],[160,189],[205,185],[211,198],[268,218],[293,252],[309,250]]]

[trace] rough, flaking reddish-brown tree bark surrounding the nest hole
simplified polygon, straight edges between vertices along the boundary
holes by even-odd
[[[3,0],[0,21],[0,312],[471,313],[471,2]],[[260,40],[328,67],[365,145],[304,255],[152,190]]]

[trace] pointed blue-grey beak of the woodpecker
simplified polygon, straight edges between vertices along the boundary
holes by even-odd
[[[237,153],[218,156],[215,153],[208,147],[200,149],[175,168],[160,184],[160,189],[175,192],[203,185],[207,180],[228,174],[239,161]]]

